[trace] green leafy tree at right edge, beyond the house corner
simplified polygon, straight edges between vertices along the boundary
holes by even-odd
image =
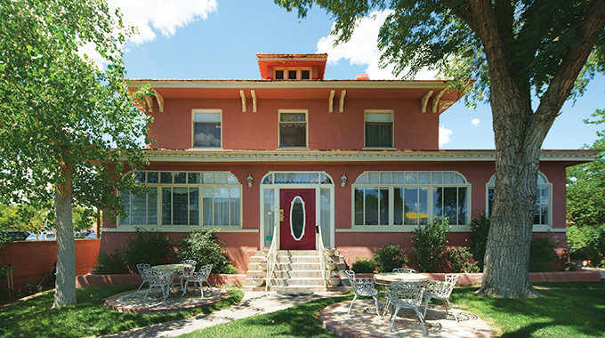
[[[605,123],[605,110],[593,113],[595,121]],[[591,149],[605,149],[605,130]],[[584,252],[593,264],[605,264],[605,151],[597,154],[594,162],[575,165],[567,170],[568,244],[572,250]]]

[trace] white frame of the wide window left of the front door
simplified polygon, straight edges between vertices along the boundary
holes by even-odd
[[[134,173],[134,172],[133,172]],[[161,170],[147,170],[141,171],[139,173],[158,173],[158,181],[157,183],[147,183],[147,174],[143,176],[144,184],[147,184],[148,187],[154,192],[157,193],[157,224],[122,224],[122,220],[120,217],[117,218],[117,229],[120,231],[134,231],[136,228],[154,230],[159,229],[165,232],[190,232],[191,229],[210,229],[210,228],[218,228],[221,229],[243,229],[244,223],[244,215],[243,215],[243,195],[244,190],[242,184],[239,182],[238,177],[228,171],[161,171]],[[198,173],[199,174],[199,182],[198,183],[162,183],[161,182],[161,173],[185,173],[189,176],[189,173]],[[204,183],[204,174],[212,173],[214,174],[224,174],[225,175],[225,183]],[[174,177],[174,176],[173,176]],[[172,179],[174,181],[174,178]],[[214,180],[214,179],[213,179]],[[230,181],[231,180],[231,181]],[[187,188],[198,188],[198,225],[170,225],[163,224],[162,217],[162,188],[164,187],[187,187]],[[238,188],[239,189],[239,225],[204,225],[204,188]],[[132,216],[129,216],[129,219]],[[149,216],[147,217],[149,219]],[[229,231],[228,231],[229,232]]]

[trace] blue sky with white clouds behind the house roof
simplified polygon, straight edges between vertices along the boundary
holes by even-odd
[[[127,24],[141,32],[125,45],[131,78],[259,79],[257,52],[327,52],[327,79],[392,79],[390,69],[377,67],[375,46],[383,13],[362,20],[349,44],[332,46],[331,16],[314,8],[300,20],[273,0],[109,0],[119,6]],[[420,74],[418,78],[430,78]],[[605,76],[597,76],[583,97],[568,102],[557,117],[543,149],[580,149],[592,145],[605,125],[586,125],[605,93]],[[440,149],[494,149],[491,109],[476,110],[457,102],[440,116]]]

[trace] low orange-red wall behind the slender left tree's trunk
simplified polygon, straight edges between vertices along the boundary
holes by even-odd
[[[76,276],[84,275],[88,270],[93,269],[100,243],[101,239],[76,239]],[[16,290],[26,283],[36,286],[57,262],[57,243],[55,241],[13,242],[6,245],[4,252],[0,251],[0,262],[4,266],[12,265]],[[43,286],[47,286],[49,276],[44,279]],[[23,290],[28,289],[21,289]]]

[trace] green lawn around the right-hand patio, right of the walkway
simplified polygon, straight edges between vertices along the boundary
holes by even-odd
[[[456,309],[471,311],[485,320],[494,337],[605,337],[605,282],[536,283],[535,286],[545,297],[480,298],[475,295],[479,287],[471,286],[457,287],[450,301]],[[180,337],[336,337],[319,326],[319,311],[351,298],[308,302]]]

